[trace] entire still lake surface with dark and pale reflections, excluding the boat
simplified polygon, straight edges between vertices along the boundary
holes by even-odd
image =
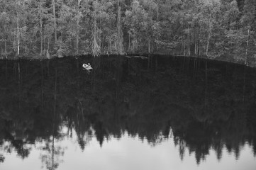
[[[181,57],[0,68],[0,169],[256,167],[255,69]]]

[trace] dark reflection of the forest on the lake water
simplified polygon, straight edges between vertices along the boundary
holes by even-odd
[[[54,154],[63,154],[55,140],[77,133],[81,149],[91,135],[100,145],[124,131],[152,145],[172,136],[179,147],[194,152],[199,163],[210,149],[221,159],[223,149],[239,157],[240,147],[256,154],[255,70],[204,60],[64,58],[50,61],[1,61],[0,145],[28,157],[27,144],[48,141],[43,155],[55,169]],[[169,64],[167,64],[169,63]],[[67,132],[63,134],[62,128]],[[50,167],[52,166],[52,167]]]

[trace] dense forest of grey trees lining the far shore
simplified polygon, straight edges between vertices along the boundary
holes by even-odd
[[[256,58],[255,0],[0,0],[0,52]]]

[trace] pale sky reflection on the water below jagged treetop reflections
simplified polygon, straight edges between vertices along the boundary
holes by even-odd
[[[55,142],[55,146],[65,148],[63,155],[55,157],[58,162],[57,169],[247,169],[253,170],[256,167],[255,157],[252,155],[252,148],[245,145],[241,150],[240,159],[236,160],[234,154],[228,151],[223,152],[221,160],[216,158],[216,152],[211,149],[206,160],[196,164],[194,154],[185,152],[184,159],[179,157],[179,149],[175,147],[172,137],[169,137],[160,144],[152,147],[146,140],[137,137],[130,137],[124,132],[121,139],[111,137],[102,147],[92,137],[88,145],[82,150],[77,144],[76,133],[74,137],[65,137]],[[6,154],[6,160],[0,164],[1,169],[46,169],[40,159],[44,142],[36,142],[30,145],[32,151],[26,159],[17,157],[16,153]],[[58,158],[58,159],[56,159]],[[13,163],[15,162],[15,163]]]

